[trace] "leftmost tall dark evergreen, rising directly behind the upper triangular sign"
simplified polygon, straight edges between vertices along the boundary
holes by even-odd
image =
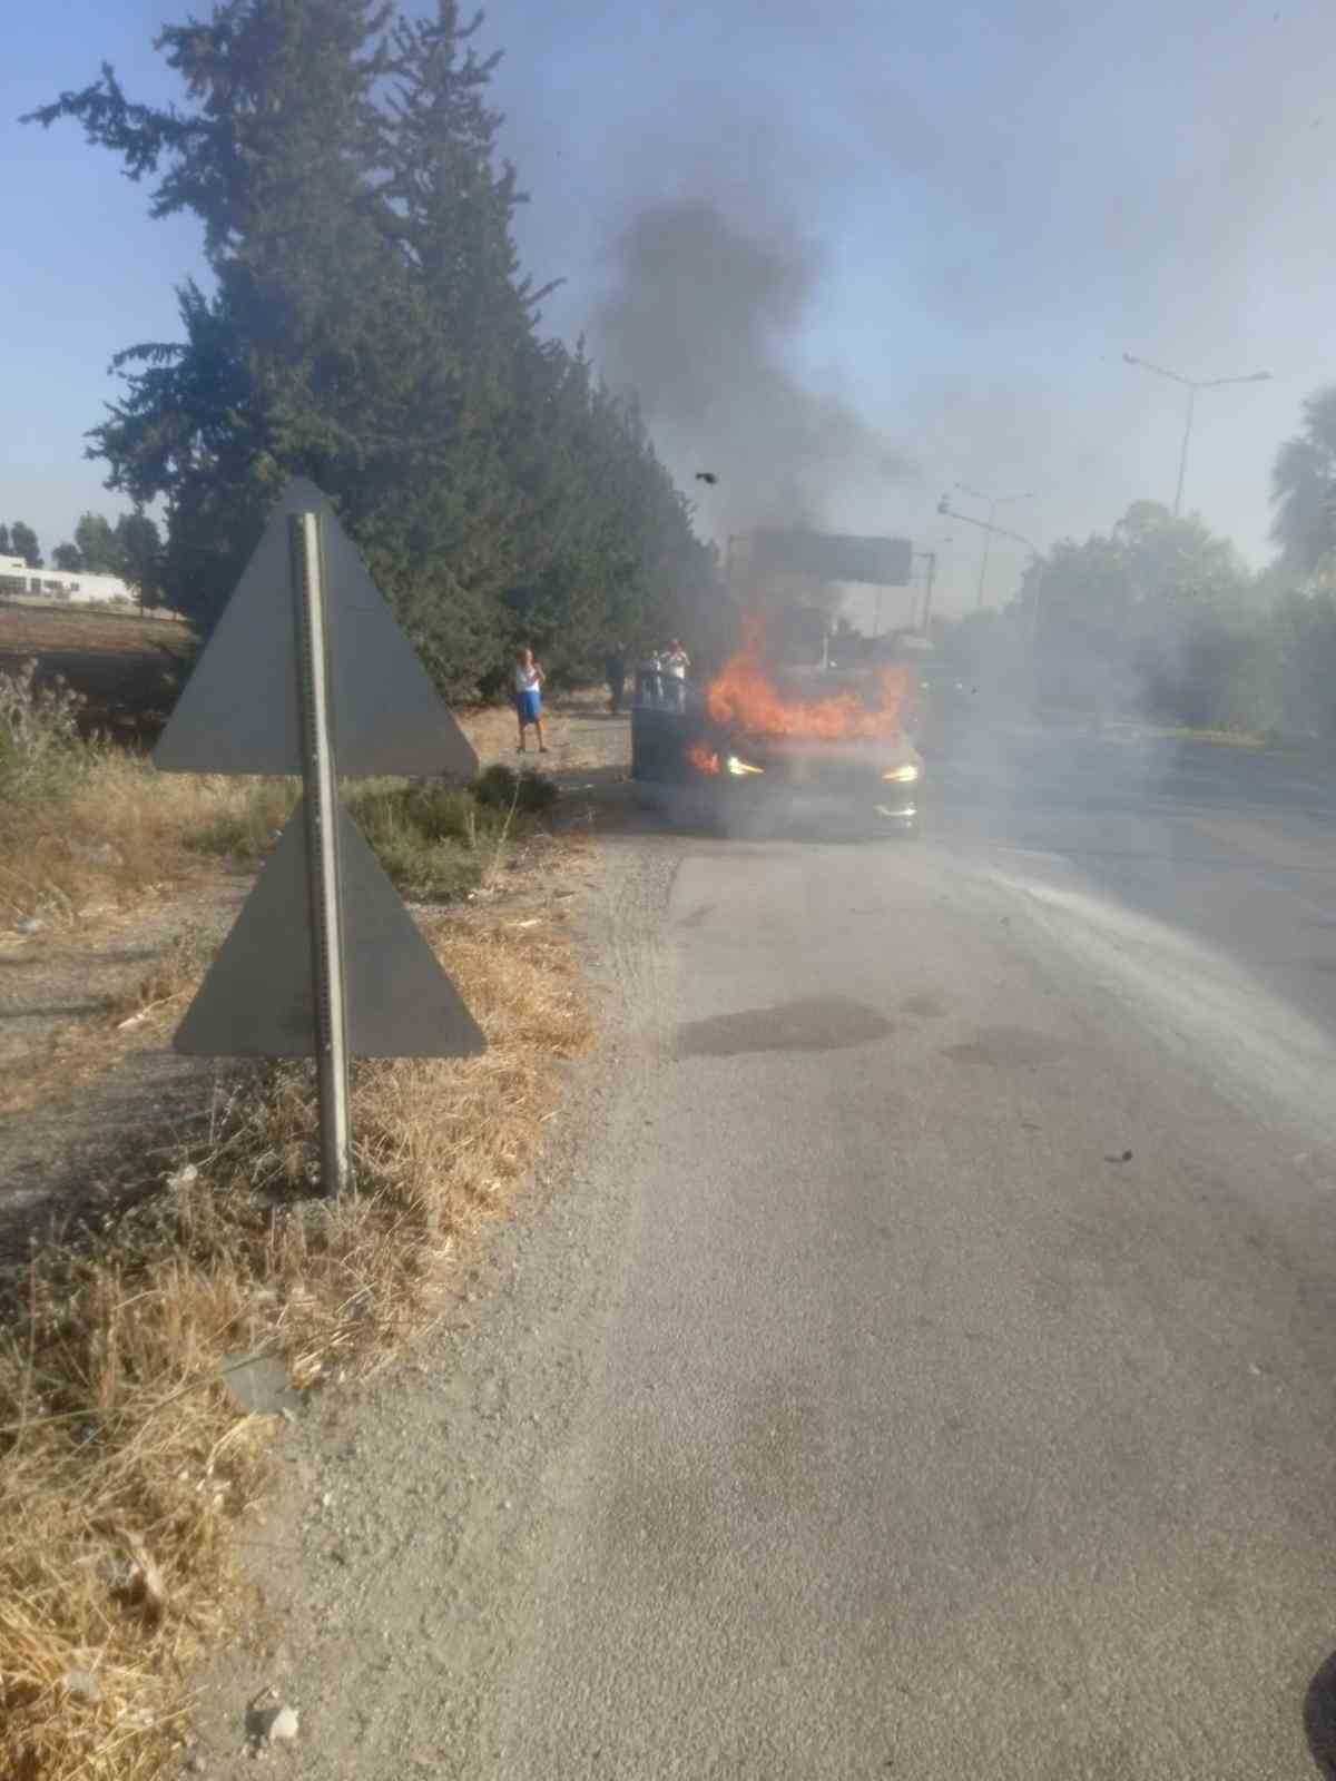
[[[132,105],[103,66],[34,114],[78,119],[132,176],[160,175],[153,216],[203,224],[217,289],[180,289],[182,344],[118,356],[128,394],[94,429],[93,454],[137,506],[166,497],[166,579],[205,623],[285,476],[337,493],[390,419],[363,367],[395,335],[397,267],[369,178],[388,18],[379,0],[226,0],[157,39],[189,112]],[[392,353],[378,369],[394,376]],[[410,379],[401,362],[395,381]]]

